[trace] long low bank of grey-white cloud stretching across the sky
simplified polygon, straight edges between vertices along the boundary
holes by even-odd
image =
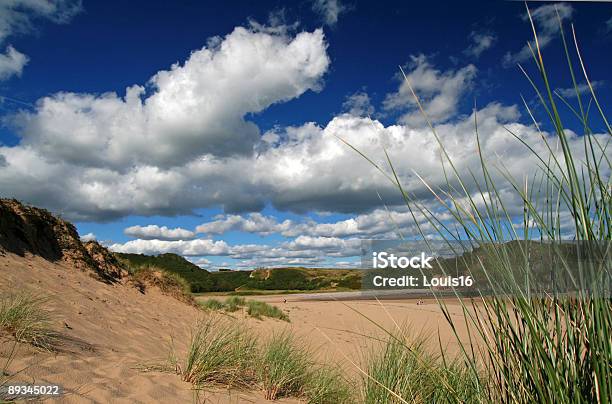
[[[533,173],[536,157],[527,153],[504,126],[546,155],[537,129],[517,123],[518,111],[514,106],[494,103],[477,114],[483,154],[492,163],[503,163],[510,175],[519,180]],[[471,115],[436,126],[462,173],[480,172],[473,122]],[[387,165],[386,148],[405,189],[417,199],[430,200],[431,194],[415,172],[433,187],[445,186],[440,146],[426,129],[384,126],[376,120],[345,114],[324,128],[305,124],[287,128],[278,136],[278,144],[266,146],[257,155],[207,156],[178,167],[142,166],[125,172],[50,163],[39,158],[31,147],[3,147],[0,155],[4,156],[6,166],[0,170],[0,192],[60,211],[66,217],[98,220],[127,214],[174,215],[210,206],[252,212],[267,203],[295,212],[355,214],[379,207],[379,195],[389,206],[400,205],[401,197],[394,185],[338,137],[382,167]],[[553,135],[545,136],[555,142]],[[579,157],[582,139],[570,134],[569,142]],[[492,175],[500,188],[510,187],[497,170]],[[467,186],[470,192],[476,190],[472,183]],[[261,227],[263,234],[278,231],[276,226],[255,215],[246,220],[220,218],[198,231],[219,234],[227,228],[244,231]],[[342,226],[354,225],[347,222]]]

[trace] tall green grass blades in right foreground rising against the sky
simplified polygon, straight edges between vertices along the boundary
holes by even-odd
[[[609,157],[612,130],[587,75],[573,27],[575,49],[570,51],[571,44],[566,40],[564,27],[559,20],[568,73],[575,88],[574,105],[555,93],[531,15],[529,21],[534,33],[530,49],[539,82],[522,67],[520,69],[532,85],[539,107],[549,120],[547,125],[551,133],[540,132],[547,152],[542,152],[542,147],[536,148],[527,143],[521,133],[515,133],[509,127],[504,129],[510,138],[525,147],[526,153],[533,154],[539,162],[538,170],[528,173],[528,177],[516,179],[509,174],[503,161],[488,160],[489,156],[482,154],[475,112],[475,153],[480,156],[480,172],[460,172],[450,151],[438,136],[438,128],[429,120],[405,75],[415,103],[440,147],[440,169],[444,170],[446,183],[437,186],[419,177],[438,205],[432,207],[406,190],[390,160],[388,173],[363,153],[357,152],[397,187],[410,212],[425,217],[427,225],[434,229],[436,238],[449,244],[456,240],[469,240],[485,246],[492,258],[488,268],[480,268],[485,274],[511,275],[516,269],[513,268],[516,262],[508,259],[505,244],[508,241],[531,239],[558,243],[569,239],[583,243],[586,246],[583,253],[593,253],[595,250],[595,253],[601,254],[596,259],[602,263],[598,268],[598,279],[609,282],[612,274],[609,255],[603,260],[601,257],[609,254],[612,240]],[[576,66],[583,76],[581,79],[576,76]],[[586,94],[579,91],[579,80],[587,83],[589,91]],[[536,121],[534,111],[527,103],[525,107],[534,127],[540,130],[542,123]],[[567,108],[567,114],[563,116],[559,112],[562,107]],[[581,148],[572,147],[570,143],[572,134],[563,125],[567,115],[574,117],[583,128],[583,133],[579,135],[583,141]],[[595,124],[600,128],[599,135],[595,135],[592,128],[595,118],[598,120]],[[497,175],[494,175],[494,171],[497,171]],[[500,175],[503,180],[499,179]],[[513,206],[508,201],[512,198],[507,191],[501,192],[502,181],[509,183],[511,192],[523,202],[522,215],[511,213]],[[470,192],[468,184],[476,184],[477,191]],[[452,219],[445,220],[449,215]],[[431,234],[425,233],[423,223],[415,223],[422,239],[427,240]],[[529,249],[523,248],[522,254],[524,260],[520,269],[524,279],[520,281],[529,285],[533,276]],[[566,271],[565,264],[561,262],[555,270]],[[612,299],[610,291],[605,289],[609,284],[594,281],[583,285],[585,287],[570,296],[556,293],[533,295],[525,291],[523,285],[512,276],[505,279],[503,284],[489,281],[488,285],[483,285],[494,293],[477,299],[477,306],[472,306],[457,295],[464,314],[464,319],[460,321],[472,330],[468,340],[462,340],[455,334],[464,364],[460,374],[468,372],[466,377],[476,383],[475,387],[482,392],[478,400],[503,403],[611,402]],[[451,329],[456,330],[457,320],[450,315],[443,300],[439,300],[439,304]],[[391,351],[386,354],[400,360],[403,360],[404,351],[408,349],[403,344],[392,344],[388,348]],[[445,359],[444,353],[442,359]],[[372,377],[383,390],[401,397],[401,394],[405,394],[402,391],[411,388],[411,383],[405,383],[413,377],[410,376],[410,367],[397,374],[397,369],[385,369],[385,363],[380,362],[379,367],[371,369]],[[479,377],[478,363],[485,367],[482,379]],[[377,402],[395,401],[388,396],[383,397],[384,392],[377,391],[376,394],[382,394],[375,396],[379,399]],[[444,394],[447,393],[451,401],[461,401],[460,392],[446,389]],[[410,390],[407,394],[412,397]]]

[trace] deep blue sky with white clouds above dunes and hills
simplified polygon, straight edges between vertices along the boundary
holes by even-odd
[[[556,7],[609,105],[612,4],[529,7],[555,88],[572,100]],[[351,265],[360,239],[416,229],[397,191],[337,136],[375,160],[389,148],[423,203],[412,173],[440,181],[398,66],[461,167],[478,163],[475,102],[489,155],[519,178],[535,167],[502,126],[538,141],[524,95],[547,129],[517,68],[535,73],[525,15],[513,1],[1,4],[0,196],[60,213],[117,251],[211,268]]]

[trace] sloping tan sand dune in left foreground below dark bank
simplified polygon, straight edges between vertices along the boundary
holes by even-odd
[[[150,288],[145,295],[118,283],[105,284],[88,272],[40,257],[0,256],[0,293],[29,290],[47,296],[54,325],[69,342],[59,353],[19,344],[9,373],[14,381],[60,384],[61,402],[151,403],[192,402],[194,392],[178,375],[143,372],[163,362],[172,337],[184,352],[189,333],[202,312]],[[13,347],[3,335],[0,364]],[[259,392],[223,389],[199,394],[200,402],[263,402]],[[293,402],[285,400],[281,402]]]

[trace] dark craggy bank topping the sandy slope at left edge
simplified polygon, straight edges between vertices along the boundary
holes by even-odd
[[[15,199],[0,199],[0,249],[65,261],[93,271],[106,282],[120,279],[125,272],[106,248],[97,242],[82,243],[72,223]]]

